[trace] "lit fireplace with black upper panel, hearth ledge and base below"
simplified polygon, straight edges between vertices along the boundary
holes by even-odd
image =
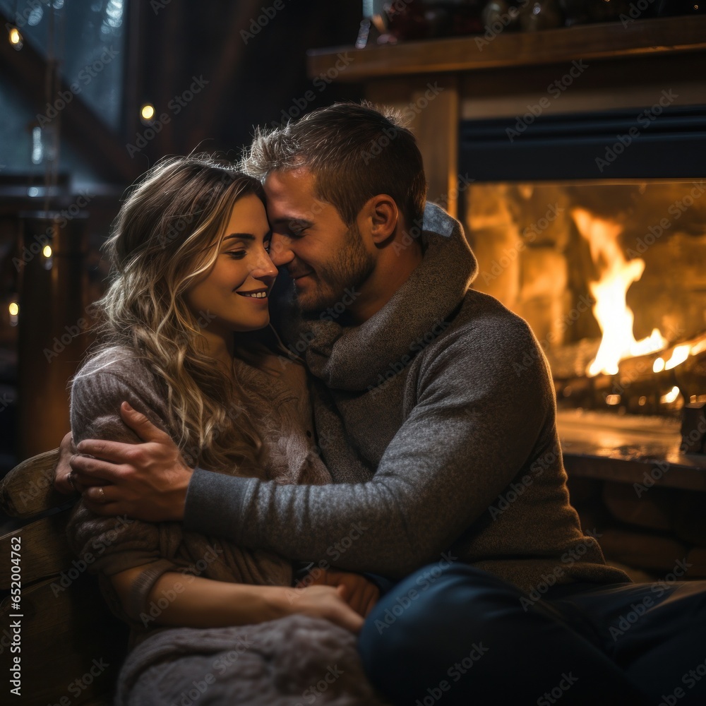
[[[665,111],[602,173],[641,112],[537,118],[521,145],[516,119],[462,121],[460,218],[474,287],[549,360],[582,525],[614,563],[706,575],[706,108]]]

